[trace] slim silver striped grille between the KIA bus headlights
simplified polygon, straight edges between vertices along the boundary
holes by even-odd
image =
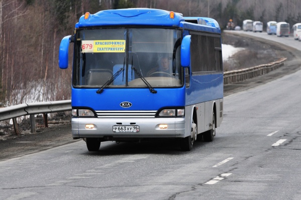
[[[156,110],[127,110],[127,111],[115,111],[115,110],[96,110],[98,118],[104,117],[115,117],[115,118],[133,118],[133,117],[155,117]]]

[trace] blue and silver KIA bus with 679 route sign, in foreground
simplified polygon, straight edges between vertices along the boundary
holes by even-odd
[[[210,18],[157,9],[86,13],[62,39],[72,70],[72,137],[103,141],[213,141],[223,120],[221,29]]]

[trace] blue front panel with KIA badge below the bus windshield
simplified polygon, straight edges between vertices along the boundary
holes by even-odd
[[[148,88],[105,88],[97,94],[97,89],[72,88],[72,107],[89,107],[93,110],[158,110],[167,106],[185,105],[185,88],[155,88],[156,94]],[[129,108],[121,102],[131,102]]]

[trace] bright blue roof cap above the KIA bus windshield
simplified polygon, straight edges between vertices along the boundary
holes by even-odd
[[[100,11],[90,14],[87,20],[81,16],[75,28],[103,27],[103,26],[164,26],[183,27],[221,34],[217,21],[205,17],[185,17],[175,13],[174,19],[169,18],[170,12],[157,9],[119,9]],[[186,23],[186,20],[197,20],[202,24]]]

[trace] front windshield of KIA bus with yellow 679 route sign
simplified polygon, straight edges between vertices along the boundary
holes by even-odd
[[[73,86],[180,87],[181,31],[156,28],[77,30]]]

